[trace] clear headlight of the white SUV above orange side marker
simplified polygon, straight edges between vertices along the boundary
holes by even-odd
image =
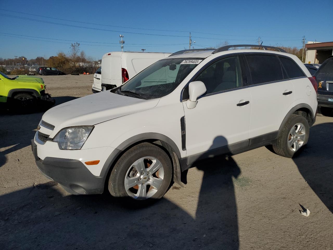
[[[52,141],[58,142],[60,149],[81,149],[94,126],[69,127],[59,131]]]

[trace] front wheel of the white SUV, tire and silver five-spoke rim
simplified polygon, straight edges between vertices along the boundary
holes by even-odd
[[[108,188],[114,197],[160,199],[168,190],[171,178],[169,156],[158,146],[145,142],[130,148],[120,157],[111,172]],[[128,187],[125,188],[126,183]]]

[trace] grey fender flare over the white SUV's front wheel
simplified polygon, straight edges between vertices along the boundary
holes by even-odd
[[[143,133],[139,135],[135,135],[124,142],[122,142],[118,147],[115,148],[114,151],[110,154],[108,159],[103,165],[100,177],[104,178],[104,183],[106,183],[107,177],[110,174],[110,169],[114,166],[116,161],[119,159],[120,155],[131,145],[138,143],[140,141],[145,141],[145,140],[159,140],[162,142],[163,147],[166,148],[168,153],[171,156],[172,160],[172,165],[173,165],[173,181],[183,187],[181,181],[180,181],[180,174],[181,174],[181,169],[180,169],[180,151],[177,147],[177,145],[174,143],[173,140],[171,140],[169,137],[166,135],[160,134],[160,133]],[[167,145],[164,145],[166,143]],[[167,148],[170,147],[170,148]],[[172,152],[170,152],[170,150]]]

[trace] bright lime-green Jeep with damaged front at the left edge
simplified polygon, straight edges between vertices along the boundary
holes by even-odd
[[[43,104],[38,106],[39,102]],[[0,105],[9,109],[28,110],[48,108],[54,103],[51,95],[45,92],[42,78],[26,75],[10,78],[0,72]]]

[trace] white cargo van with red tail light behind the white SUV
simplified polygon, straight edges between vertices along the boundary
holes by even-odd
[[[154,62],[171,55],[155,52],[109,52],[102,57],[102,91],[122,85]]]

